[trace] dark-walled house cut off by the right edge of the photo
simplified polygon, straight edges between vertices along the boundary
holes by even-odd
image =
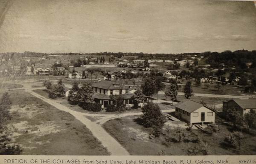
[[[248,113],[250,109],[256,110],[256,100],[247,99],[247,100],[229,100],[223,102],[223,112],[227,110],[238,110],[239,113],[243,116],[245,113]]]

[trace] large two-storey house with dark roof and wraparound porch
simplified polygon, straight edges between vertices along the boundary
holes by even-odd
[[[124,98],[124,104],[126,106],[134,106],[134,89],[129,89],[129,87],[122,84],[122,82],[102,80],[99,83],[93,84],[92,87],[94,91],[94,101],[98,104],[101,104],[103,108],[115,103],[111,99],[111,95],[120,94],[122,94]],[[148,100],[148,97],[145,96],[145,99]]]

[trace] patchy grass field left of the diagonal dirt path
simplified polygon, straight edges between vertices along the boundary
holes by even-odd
[[[9,91],[12,143],[22,155],[109,155],[75,117],[22,90]]]

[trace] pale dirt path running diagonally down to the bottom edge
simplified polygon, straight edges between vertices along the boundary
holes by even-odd
[[[58,102],[55,102],[51,99],[47,99],[44,96],[41,96],[32,90],[26,90],[33,96],[43,100],[44,102],[47,102],[48,104],[56,107],[59,110],[65,111],[67,113],[70,113],[73,115],[76,119],[78,119],[80,122],[82,122],[86,127],[92,132],[93,136],[95,136],[99,141],[101,141],[102,145],[108,149],[108,151],[111,153],[111,155],[115,156],[128,156],[130,155],[127,150],[125,150],[124,147],[122,147],[121,144],[119,144],[118,141],[116,141],[111,135],[109,135],[105,129],[100,125],[96,124],[95,122],[91,122],[89,119],[87,119],[84,116],[84,113],[77,112],[74,110],[71,110],[70,108],[59,104]]]

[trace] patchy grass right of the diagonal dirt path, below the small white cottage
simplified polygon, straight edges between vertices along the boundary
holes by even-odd
[[[161,151],[166,155],[187,155],[186,150],[189,146],[197,145],[198,143],[174,143],[168,142],[163,134],[159,138],[149,139],[151,133],[150,128],[145,128],[137,124],[134,119],[138,116],[129,116],[125,118],[113,119],[103,127],[110,133],[119,143],[125,147],[131,155],[157,155]],[[166,128],[167,125],[164,126]],[[220,132],[214,133],[212,136],[202,133],[197,129],[192,132],[197,134],[200,139],[208,143],[209,155],[256,155],[256,137],[245,135],[247,138],[242,141],[241,150],[234,148],[224,148],[220,142],[224,136],[229,134],[229,128],[226,125],[219,125]],[[164,131],[164,130],[163,130]],[[174,132],[171,131],[171,135]]]

